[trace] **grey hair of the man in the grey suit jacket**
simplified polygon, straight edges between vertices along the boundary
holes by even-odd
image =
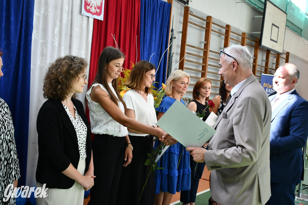
[[[252,56],[246,46],[233,44],[224,49],[224,52],[235,58],[244,70],[252,70]],[[231,63],[234,59],[225,55],[225,61]]]

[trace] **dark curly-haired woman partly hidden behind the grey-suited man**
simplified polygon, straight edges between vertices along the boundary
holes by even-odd
[[[232,86],[230,86],[229,84],[225,84],[225,80],[223,80],[219,88],[219,95],[216,95],[213,99],[214,105],[219,104],[219,106],[210,108],[210,112],[214,112],[219,117],[219,115],[222,113],[223,109],[226,106],[227,99],[231,90]]]

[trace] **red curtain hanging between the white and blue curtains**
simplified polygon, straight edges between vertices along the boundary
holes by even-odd
[[[99,55],[106,46],[115,47],[125,55],[124,68],[140,60],[140,0],[105,0],[104,20],[94,19],[89,71],[89,84],[95,78]],[[136,46],[137,37],[137,46]],[[137,54],[138,51],[138,54]]]

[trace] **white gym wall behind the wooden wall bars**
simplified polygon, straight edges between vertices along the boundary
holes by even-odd
[[[167,1],[167,0],[164,0]],[[239,2],[239,3],[237,3]],[[189,7],[191,11],[202,17],[206,18],[206,16],[212,16],[213,22],[216,22],[220,25],[226,25],[229,24],[231,26],[231,30],[241,34],[241,32],[246,32],[249,38],[256,38],[259,36],[253,36],[251,35],[251,32],[254,31],[260,31],[261,30],[261,18],[253,18],[253,16],[260,16],[262,15],[261,12],[258,10],[252,8],[251,6],[247,5],[244,2],[241,2],[240,0],[193,0],[189,2]],[[182,23],[183,23],[183,13],[184,13],[184,6],[176,1],[173,1],[173,7],[172,7],[172,14],[173,14],[173,29],[176,39],[173,41],[173,62],[172,65],[176,65],[176,63],[180,60],[180,44],[181,44],[181,34],[178,33],[178,31],[182,30]],[[205,22],[196,19],[194,17],[189,17],[189,19],[193,19],[193,22],[196,22],[198,24],[201,24],[202,26],[205,26]],[[212,26],[212,29],[214,30],[220,30],[222,33],[225,32],[224,29],[221,29],[217,26]],[[193,26],[189,24],[188,26],[188,36],[187,36],[187,43],[203,47],[203,44],[200,43],[200,41],[204,41],[204,34],[205,31],[201,28],[198,28],[196,26]],[[232,38],[235,38],[233,35]],[[237,38],[239,39],[239,38]],[[219,51],[223,47],[223,40],[224,36],[221,36],[219,34],[215,34],[212,32],[211,35],[211,42],[210,42],[210,50]],[[240,40],[240,39],[239,39]],[[231,44],[238,44],[237,42],[230,41]],[[252,43],[249,43],[252,44]],[[306,41],[304,38],[299,37],[297,34],[293,33],[291,30],[286,29],[285,33],[285,42],[284,42],[284,52],[288,51],[290,52],[290,60],[289,62],[294,63],[296,66],[298,66],[301,78],[298,82],[298,85],[296,87],[296,90],[299,94],[302,95],[305,99],[308,100],[308,92],[305,92],[306,86],[304,85],[305,77],[308,77],[308,70],[306,69],[306,66],[308,64],[308,45],[305,46],[305,44],[308,44],[308,41]],[[250,48],[251,52],[253,52],[253,48]],[[196,49],[191,49],[187,47],[188,52],[192,52],[195,54],[202,55],[202,52],[199,52]],[[217,54],[211,54],[210,57],[212,58],[219,58]],[[201,62],[202,60],[200,58],[195,58],[193,56],[186,55],[185,58]],[[265,53],[260,52],[259,58],[258,58],[258,64],[263,65],[265,64]],[[273,55],[270,56],[270,67],[274,68],[274,64],[276,59]],[[280,63],[283,63],[284,60],[281,59]],[[210,64],[218,65],[217,61],[209,61]],[[172,67],[173,67],[172,66]],[[185,66],[199,69],[201,70],[201,66],[197,66],[193,63],[185,62]],[[178,69],[178,65],[175,69]],[[209,70],[217,71],[218,68],[208,67]],[[261,67],[258,67],[258,70],[262,70]],[[185,70],[188,74],[193,75],[200,75],[200,73],[195,71]],[[261,74],[257,74],[261,75]],[[200,77],[199,76],[199,77]],[[219,79],[217,75],[208,75],[209,78],[216,78]],[[192,83],[195,83],[196,80],[192,79]],[[217,82],[212,82],[212,85],[217,86]],[[188,90],[192,90],[193,87],[189,86]],[[218,89],[213,89],[212,92],[218,92]],[[186,94],[187,97],[192,97],[191,94]],[[214,96],[211,95],[210,98],[213,98]]]

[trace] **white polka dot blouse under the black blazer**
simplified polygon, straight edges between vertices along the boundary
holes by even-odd
[[[71,122],[73,123],[75,127],[75,131],[76,131],[77,139],[78,139],[79,154],[80,154],[79,160],[86,159],[87,157],[87,154],[86,154],[87,126],[83,122],[75,106],[74,106],[75,118],[73,117],[73,115],[71,114],[67,106],[63,105],[63,107],[65,108],[67,115],[70,117]]]

